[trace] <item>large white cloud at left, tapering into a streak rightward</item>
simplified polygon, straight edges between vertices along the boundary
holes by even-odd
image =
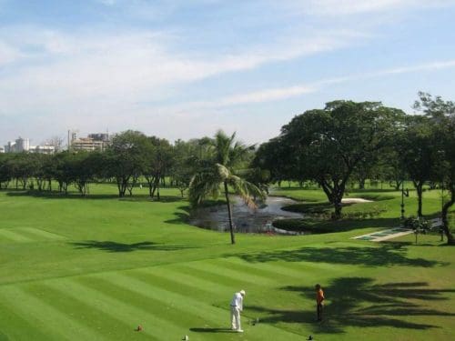
[[[317,54],[363,38],[349,31],[321,32],[310,38],[251,46],[232,55],[195,57],[176,52],[169,44],[176,37],[165,33],[65,35],[50,30],[11,31],[15,34],[10,40],[20,42],[17,49],[33,44],[41,51],[25,55],[28,65],[0,80],[0,99],[4,108],[12,110],[58,105],[67,108],[109,99],[126,103],[157,100],[167,86]]]

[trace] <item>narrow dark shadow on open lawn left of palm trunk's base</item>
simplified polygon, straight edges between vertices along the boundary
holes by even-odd
[[[69,243],[76,248],[96,248],[101,251],[108,252],[133,252],[133,251],[177,251],[187,248],[193,248],[190,246],[169,246],[162,245],[153,242],[141,242],[141,243],[117,243],[113,241],[98,241],[98,240],[86,240],[84,242],[72,242]]]

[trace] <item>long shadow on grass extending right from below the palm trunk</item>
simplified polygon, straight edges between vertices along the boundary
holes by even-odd
[[[313,262],[356,266],[447,266],[448,263],[424,258],[408,258],[408,243],[388,243],[365,247],[301,247],[295,250],[277,250],[258,254],[238,255],[250,263],[273,261]]]

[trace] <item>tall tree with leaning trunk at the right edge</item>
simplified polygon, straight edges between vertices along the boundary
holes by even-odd
[[[434,172],[442,186],[450,191],[450,199],[444,203],[441,210],[442,229],[447,236],[447,243],[455,245],[447,217],[450,207],[455,203],[455,103],[422,92],[419,93],[419,97],[414,107],[430,117],[434,135],[437,137],[434,150],[437,161]]]

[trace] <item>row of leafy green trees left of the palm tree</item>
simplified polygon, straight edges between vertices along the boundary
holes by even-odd
[[[67,194],[76,186],[82,196],[88,195],[94,182],[115,183],[118,196],[132,195],[139,181],[147,183],[149,196],[159,200],[159,188],[167,176],[182,190],[192,176],[191,155],[199,153],[200,141],[177,141],[127,130],[112,138],[105,152],[64,151],[55,155],[0,155],[0,188],[52,191],[53,184]],[[185,156],[185,157],[184,157]]]

